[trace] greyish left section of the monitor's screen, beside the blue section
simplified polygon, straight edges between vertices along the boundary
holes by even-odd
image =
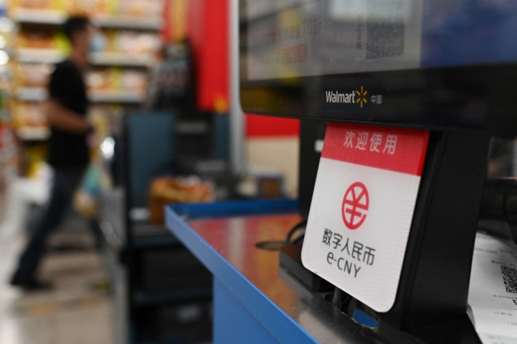
[[[277,6],[277,15],[248,21],[251,80],[420,66],[421,0],[291,1],[291,6]],[[255,17],[257,7],[247,13]]]

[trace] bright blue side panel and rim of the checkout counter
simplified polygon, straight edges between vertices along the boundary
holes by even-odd
[[[195,233],[172,207],[167,207],[166,224],[217,280],[214,285],[215,343],[318,343]],[[219,300],[219,297],[223,300]],[[238,317],[234,318],[235,315]],[[246,329],[242,335],[253,333],[257,341],[253,338],[247,338],[244,342],[237,341],[237,338],[235,341],[226,341],[230,335],[226,328],[228,323]],[[274,341],[259,341],[264,338]]]

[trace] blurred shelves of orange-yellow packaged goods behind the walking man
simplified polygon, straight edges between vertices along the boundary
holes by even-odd
[[[7,5],[12,22],[9,105],[12,133],[21,142],[22,156],[35,145],[41,147],[37,152],[45,152],[49,131],[39,104],[47,97],[53,65],[69,51],[60,33],[60,25],[69,15],[88,15],[107,42],[104,51],[91,55],[86,76],[93,105],[89,116],[96,116],[94,123],[102,127],[99,131],[109,132],[110,117],[143,105],[149,67],[161,48],[162,0],[12,0]],[[22,174],[34,170],[28,164],[41,161],[44,156],[22,159]]]

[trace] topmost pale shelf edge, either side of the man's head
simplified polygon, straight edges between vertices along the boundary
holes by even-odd
[[[66,13],[57,10],[30,10],[17,8],[12,10],[11,18],[19,24],[61,25],[66,20]],[[92,18],[93,24],[101,28],[125,28],[134,30],[161,30],[163,19],[156,17],[133,17],[98,15]]]

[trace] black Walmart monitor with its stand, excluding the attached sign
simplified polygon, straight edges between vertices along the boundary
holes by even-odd
[[[243,110],[302,119],[300,194],[327,121],[430,130],[397,298],[370,313],[374,335],[480,343],[466,298],[490,139],[517,136],[517,1],[240,0],[239,30]]]

